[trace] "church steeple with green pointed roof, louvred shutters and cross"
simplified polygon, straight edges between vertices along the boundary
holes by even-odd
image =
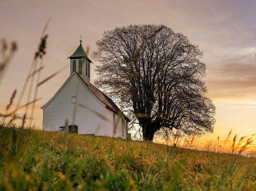
[[[80,38],[83,37],[80,35]],[[88,58],[83,49],[82,40],[80,40],[80,45],[77,50],[75,50],[75,52],[68,58],[70,59],[70,75],[75,71],[86,83],[90,84],[90,64],[92,61]]]

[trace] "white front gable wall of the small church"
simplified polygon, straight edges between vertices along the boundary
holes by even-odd
[[[76,97],[77,103],[71,103],[72,97]],[[75,74],[47,104],[43,106],[43,129],[59,131],[68,120],[68,125],[78,126],[79,134],[106,135],[106,108]]]

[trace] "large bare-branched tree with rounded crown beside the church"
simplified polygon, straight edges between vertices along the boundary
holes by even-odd
[[[160,129],[183,135],[212,133],[215,106],[202,80],[203,52],[164,25],[130,25],[105,31],[92,53],[101,63],[95,85],[133,113],[143,140]]]

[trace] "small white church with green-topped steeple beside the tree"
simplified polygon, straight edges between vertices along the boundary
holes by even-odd
[[[130,121],[117,105],[90,83],[92,61],[82,41],[70,59],[70,76],[43,106],[43,129],[130,138]]]

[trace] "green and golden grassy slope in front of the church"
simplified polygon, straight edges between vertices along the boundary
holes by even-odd
[[[0,190],[256,190],[241,155],[0,125]]]

